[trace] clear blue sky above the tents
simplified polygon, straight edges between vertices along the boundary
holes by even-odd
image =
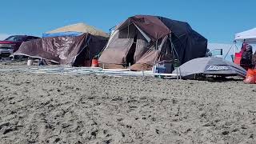
[[[230,43],[234,34],[256,26],[255,0],[6,0],[0,35],[33,34],[85,22],[108,32],[134,14],[189,22],[209,42]]]

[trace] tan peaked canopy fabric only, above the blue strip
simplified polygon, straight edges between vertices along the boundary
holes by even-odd
[[[92,34],[95,36],[101,36],[101,37],[105,37],[105,38],[109,37],[109,35],[106,34],[104,31],[98,30],[94,26],[86,25],[85,23],[77,23],[77,24],[70,25],[70,26],[63,26],[56,30],[48,31],[48,32],[46,32],[46,34],[63,33],[63,32],[70,32],[70,31],[80,32],[80,33],[88,33],[88,34]]]

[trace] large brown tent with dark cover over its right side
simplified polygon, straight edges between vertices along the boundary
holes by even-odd
[[[116,26],[99,63],[105,68],[152,69],[162,62],[184,63],[206,55],[207,40],[186,22],[136,15]]]

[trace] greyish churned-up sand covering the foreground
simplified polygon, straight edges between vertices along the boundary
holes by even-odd
[[[256,143],[241,81],[1,73],[0,107],[0,143]]]

